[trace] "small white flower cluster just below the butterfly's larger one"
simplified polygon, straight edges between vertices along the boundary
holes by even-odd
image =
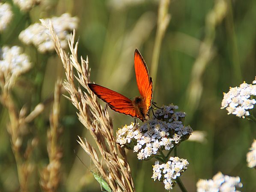
[[[155,161],[151,178],[154,181],[163,181],[164,188],[171,190],[176,183],[176,178],[186,171],[188,164],[186,159],[180,159],[179,157],[170,157],[169,161],[163,164]]]

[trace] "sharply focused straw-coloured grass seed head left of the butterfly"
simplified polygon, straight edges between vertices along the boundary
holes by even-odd
[[[101,107],[97,101],[97,97],[87,85],[87,83],[90,83],[88,58],[83,60],[81,57],[81,64],[78,61],[78,43],[74,42],[75,30],[68,42],[71,52],[68,56],[60,47],[60,41],[54,32],[51,22],[45,23],[44,20],[41,20],[41,22],[47,29],[49,29],[50,36],[55,44],[55,50],[60,56],[65,68],[67,79],[64,81],[64,87],[70,95],[70,97],[67,98],[78,109],[79,113],[77,113],[77,116],[95,140],[101,157],[98,157],[98,152],[96,152],[86,139],[82,140],[79,137],[79,141],[77,142],[91,157],[92,162],[113,191],[134,191],[130,167],[127,163],[125,152],[116,147],[116,142],[113,136],[112,120],[108,115],[107,108]],[[74,69],[77,72],[77,76],[74,75]],[[76,87],[74,79],[77,79],[80,86],[85,88],[89,94],[83,92],[80,87]],[[106,165],[106,168],[103,168],[102,164]]]

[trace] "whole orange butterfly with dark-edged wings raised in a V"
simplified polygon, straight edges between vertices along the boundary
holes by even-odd
[[[138,49],[135,49],[134,52],[134,67],[140,96],[134,97],[133,101],[120,93],[98,84],[88,83],[88,86],[92,92],[95,93],[99,99],[106,102],[112,110],[145,121],[148,119],[147,114],[151,107],[153,84],[152,78],[149,77],[148,67]]]

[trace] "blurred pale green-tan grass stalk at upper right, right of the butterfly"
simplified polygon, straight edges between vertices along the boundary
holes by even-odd
[[[205,68],[214,57],[215,29],[226,16],[227,3],[225,0],[215,0],[214,8],[205,18],[205,38],[199,47],[199,53],[191,72],[191,81],[187,90],[187,113],[193,114],[202,95],[202,76]]]

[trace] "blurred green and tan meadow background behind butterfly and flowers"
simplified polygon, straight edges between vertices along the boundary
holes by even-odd
[[[12,3],[11,1],[9,1]],[[133,55],[138,48],[151,69],[152,52],[157,31],[157,0],[62,0],[50,1],[47,11],[34,7],[28,14],[13,6],[14,19],[8,32],[1,35],[1,46],[20,45],[33,61],[33,68],[15,86],[13,94],[18,108],[24,104],[33,108],[37,101],[47,98],[54,90],[58,77],[65,79],[63,66],[55,53],[40,54],[34,47],[23,45],[18,34],[39,18],[60,16],[69,12],[80,20],[78,55],[88,55],[91,81],[108,87],[129,98],[138,95]],[[174,103],[187,113],[186,125],[193,130],[207,133],[206,143],[183,142],[178,156],[190,165],[181,179],[189,192],[196,191],[199,178],[210,179],[218,171],[224,175],[239,176],[241,191],[256,189],[256,171],[247,167],[246,154],[256,138],[253,122],[227,115],[221,110],[223,92],[239,86],[243,81],[251,83],[256,76],[256,1],[227,0],[223,20],[214,28],[212,57],[202,74],[191,73],[199,47],[207,36],[205,18],[214,7],[214,0],[173,0],[169,6],[170,24],[163,37],[159,55],[157,79],[153,79],[153,101],[158,105]],[[199,77],[199,83],[192,84]],[[38,86],[37,82],[42,85]],[[195,81],[196,82],[196,81]],[[200,93],[194,103],[190,87]],[[40,87],[40,89],[39,89]],[[39,89],[39,90],[38,90]],[[67,94],[67,93],[65,93]],[[102,103],[104,105],[104,103]],[[48,163],[47,136],[51,106],[30,126],[28,137],[37,137],[39,145],[33,160],[38,170]],[[63,126],[62,181],[63,192],[98,192],[99,184],[93,175],[77,159],[74,150],[89,169],[96,172],[89,157],[76,142],[77,135],[86,137],[86,129],[77,119],[77,110],[64,97],[61,100],[61,124]],[[109,110],[115,129],[130,124],[130,116]],[[18,177],[9,134],[6,131],[8,114],[0,106],[0,191],[18,191]],[[165,191],[164,184],[151,179],[154,160],[137,160],[128,151],[137,192]],[[41,191],[35,172],[32,185]],[[177,185],[174,192],[179,192]]]

